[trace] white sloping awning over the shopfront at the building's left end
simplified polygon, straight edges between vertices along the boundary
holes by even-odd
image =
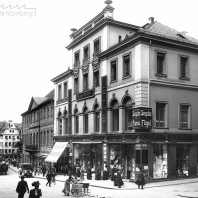
[[[46,162],[57,162],[68,142],[56,142],[51,153],[45,159]]]

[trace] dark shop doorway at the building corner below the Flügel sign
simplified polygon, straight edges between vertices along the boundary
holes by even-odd
[[[148,182],[148,145],[136,144],[135,145],[135,179],[137,179],[140,169],[145,173],[145,181]]]

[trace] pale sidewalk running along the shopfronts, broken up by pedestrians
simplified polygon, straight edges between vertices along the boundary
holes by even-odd
[[[18,169],[16,167],[10,166],[10,169],[12,169],[15,172],[18,172]],[[42,175],[36,175],[35,178],[39,179],[46,179]],[[57,175],[56,181],[65,182],[67,176],[64,175]],[[85,177],[86,178],[86,177]],[[92,187],[98,187],[98,188],[105,188],[105,189],[114,189],[114,190],[134,190],[137,189],[137,185],[134,182],[129,182],[126,179],[123,179],[124,185],[121,188],[118,188],[117,186],[113,185],[113,182],[111,180],[84,180],[84,183],[89,183]],[[147,183],[145,185],[146,188],[154,188],[154,187],[162,187],[162,186],[172,186],[172,185],[180,185],[180,184],[189,184],[189,183],[198,183],[198,178],[191,178],[191,179],[178,179],[178,180],[171,180],[171,181],[160,181],[160,182],[153,182],[153,183]],[[192,195],[192,193],[186,192],[182,193],[180,195],[181,197],[190,197],[195,198],[198,197],[197,194],[195,196]]]

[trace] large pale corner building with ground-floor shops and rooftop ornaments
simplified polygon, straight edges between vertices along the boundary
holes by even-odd
[[[107,164],[135,180],[197,177],[198,40],[149,18],[113,19],[111,1],[72,29],[72,69],[55,83],[54,140],[46,161]]]

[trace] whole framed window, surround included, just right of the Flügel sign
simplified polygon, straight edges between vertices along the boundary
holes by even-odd
[[[156,120],[155,126],[157,128],[167,127],[167,106],[165,102],[156,102]]]

